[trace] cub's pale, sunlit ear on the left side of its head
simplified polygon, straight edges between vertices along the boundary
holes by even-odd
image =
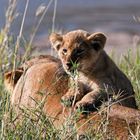
[[[49,40],[51,42],[52,47],[58,51],[60,49],[63,37],[60,34],[52,33],[49,37]]]

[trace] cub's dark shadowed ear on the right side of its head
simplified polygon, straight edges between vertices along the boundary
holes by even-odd
[[[87,39],[96,51],[103,49],[106,43],[106,36],[100,32],[91,34]]]

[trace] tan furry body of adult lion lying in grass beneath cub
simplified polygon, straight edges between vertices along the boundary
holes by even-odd
[[[37,57],[25,64],[28,64],[26,65],[27,69],[15,83],[11,94],[13,107],[17,113],[20,113],[19,107],[36,108],[35,101],[40,103],[44,97],[47,97],[43,111],[52,118],[54,125],[60,128],[69,115],[69,109],[64,110],[61,105],[61,98],[69,88],[69,76],[63,70],[60,60],[51,56]],[[113,105],[108,110],[108,117],[110,123],[107,127],[107,134],[122,140],[128,138],[129,130],[127,126],[130,124],[131,128],[131,124],[134,125],[140,119],[140,112],[135,109]],[[78,134],[83,135],[89,130],[91,132],[98,131],[102,120],[102,115],[98,112],[89,115],[81,114],[77,120]],[[128,120],[128,122],[125,120]]]

